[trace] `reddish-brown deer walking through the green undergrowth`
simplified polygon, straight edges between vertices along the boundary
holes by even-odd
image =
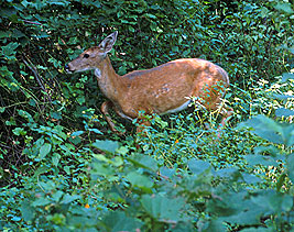
[[[140,118],[140,111],[145,114],[177,112],[188,107],[192,97],[202,99],[202,104],[208,110],[219,109],[229,86],[228,75],[221,67],[204,59],[183,58],[119,76],[107,55],[117,35],[118,32],[113,32],[98,46],[85,51],[65,66],[67,73],[95,70],[100,90],[108,98],[101,106],[101,112],[113,132],[118,131],[109,117],[109,107],[113,107],[122,118],[139,118],[145,125],[149,122]],[[225,125],[232,109],[222,108],[220,113],[221,124]]]

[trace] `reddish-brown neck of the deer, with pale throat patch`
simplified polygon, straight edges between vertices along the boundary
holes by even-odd
[[[121,96],[124,96],[123,91],[127,91],[127,79],[115,71],[108,56],[99,63],[98,67],[95,69],[95,76],[97,77],[102,93],[113,103],[116,103]]]

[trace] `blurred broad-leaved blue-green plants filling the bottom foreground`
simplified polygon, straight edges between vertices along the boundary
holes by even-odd
[[[287,183],[293,181],[294,161],[287,148],[294,140],[293,134],[288,139],[284,135],[294,131],[293,125],[282,125],[265,117],[251,119],[246,125],[253,126],[254,133],[269,142],[274,140],[286,146],[255,148],[247,157],[252,169],[260,166],[281,169],[283,164],[274,188],[260,189],[258,186],[264,179],[238,168],[216,169],[197,158],[183,162],[182,168],[167,168],[148,155],[124,157],[128,147],[117,142],[96,141],[91,147],[105,155],[92,154],[88,194],[83,197],[79,189],[66,194],[65,180],[41,175],[40,194],[34,194],[36,198],[29,195],[20,209],[24,222],[40,229],[77,231],[290,230],[293,190]]]

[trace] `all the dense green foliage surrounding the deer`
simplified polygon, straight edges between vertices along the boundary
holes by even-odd
[[[293,1],[0,5],[1,231],[294,231]],[[126,135],[110,132],[94,75],[63,66],[117,30],[121,75],[181,57],[228,71],[221,137],[205,110],[148,136],[113,114]]]

